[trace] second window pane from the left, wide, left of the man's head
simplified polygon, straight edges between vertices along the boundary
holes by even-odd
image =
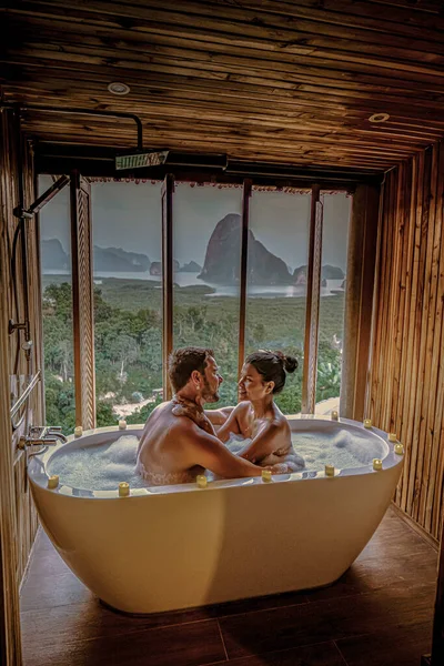
[[[97,425],[162,400],[161,183],[92,183]]]

